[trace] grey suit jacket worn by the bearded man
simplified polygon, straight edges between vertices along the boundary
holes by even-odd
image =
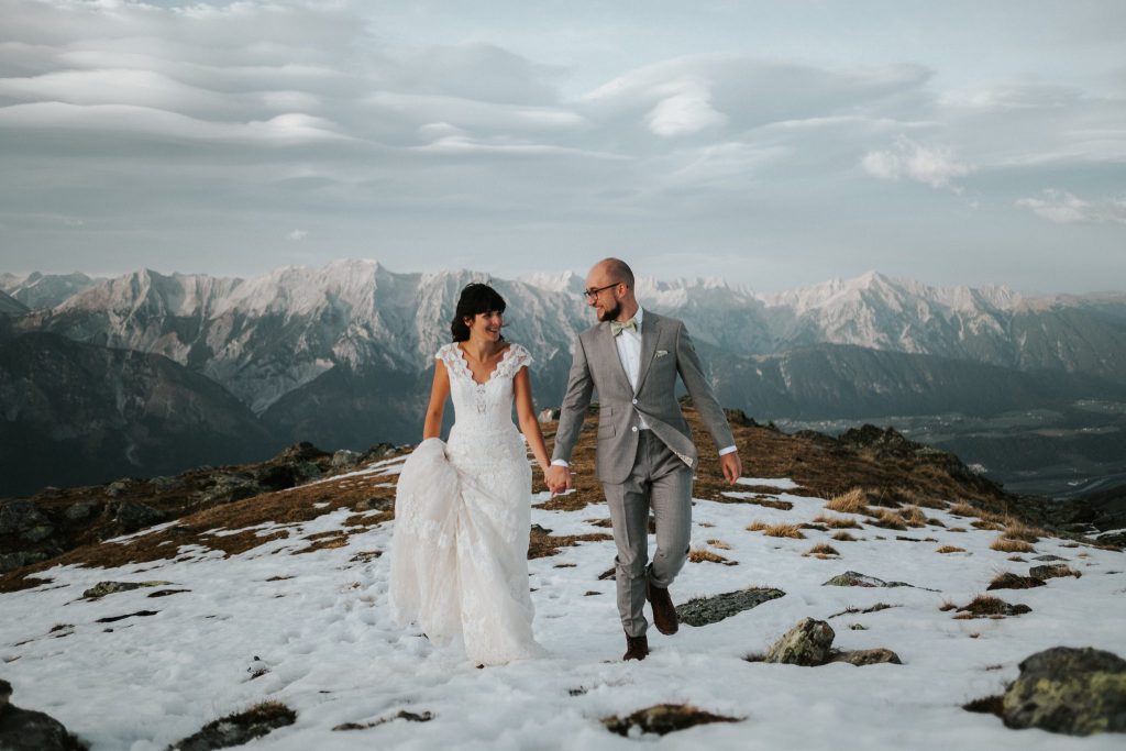
[[[638,414],[645,417],[645,422],[665,446],[695,468],[699,455],[692,445],[688,422],[677,404],[677,374],[685,382],[716,448],[734,445],[727,419],[704,376],[685,324],[646,309],[641,329],[636,391],[629,386],[629,378],[622,367],[608,322],[600,322],[578,336],[555,432],[553,461],[571,461],[591,392],[597,388],[598,450],[595,466],[601,482],[622,483],[629,476],[637,456]]]

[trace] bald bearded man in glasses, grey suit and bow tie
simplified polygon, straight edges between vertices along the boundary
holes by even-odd
[[[598,390],[596,472],[614,525],[618,613],[626,632],[625,660],[649,654],[642,611],[653,606],[662,634],[677,633],[669,584],[688,555],[692,471],[697,465],[688,423],[673,393],[677,374],[720,449],[724,477],[742,473],[735,440],[712,393],[683,323],[644,311],[634,297],[634,275],[616,258],[587,275],[583,293],[599,323],[579,334],[563,399],[547,484],[572,486],[570,458],[591,392]],[[650,507],[656,518],[656,551],[649,557]]]

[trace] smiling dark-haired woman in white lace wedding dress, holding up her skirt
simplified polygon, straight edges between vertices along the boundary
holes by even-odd
[[[454,341],[435,355],[422,442],[395,491],[392,611],[432,642],[461,642],[477,665],[543,653],[528,593],[531,467],[512,423],[513,401],[542,472],[547,449],[531,403],[531,356],[501,337],[503,313],[492,287],[462,290]],[[448,396],[455,420],[444,444]]]

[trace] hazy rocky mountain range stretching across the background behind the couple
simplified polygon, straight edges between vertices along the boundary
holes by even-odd
[[[414,441],[432,354],[448,340],[454,304],[473,280],[489,280],[504,296],[504,336],[536,359],[539,406],[557,404],[571,342],[593,322],[582,278],[573,272],[490,279],[472,270],[403,274],[346,259],[247,279],[149,269],[111,278],[3,274],[5,432],[34,436],[27,445],[61,447],[66,436],[108,430],[114,440],[99,440],[116,447],[110,453],[137,474],[158,471],[144,456],[176,456],[188,447],[193,458],[182,466],[230,461],[220,453],[223,441],[203,430],[200,413],[169,409],[162,418],[168,436],[137,433],[125,405],[152,399],[154,381],[138,386],[116,355],[83,360],[88,378],[115,384],[101,395],[105,415],[69,409],[69,382],[43,377],[43,368],[55,365],[28,364],[47,357],[41,352],[70,363],[75,355],[60,359],[59,352],[78,342],[163,356],[162,377],[178,393],[196,393],[194,403],[209,405],[204,412],[229,405],[231,421],[221,432],[241,431],[249,454],[265,457],[296,440],[330,448]],[[776,294],[714,279],[642,278],[637,296],[685,320],[721,401],[760,420],[999,414],[1064,410],[1079,400],[1126,402],[1121,293],[1026,297],[1003,287],[930,287],[868,272]],[[38,337],[24,341],[32,334]],[[21,406],[33,392],[37,404],[48,405],[34,420]],[[138,435],[149,450],[126,452],[140,445]],[[176,450],[164,442],[173,435]],[[5,464],[23,456],[7,438],[0,450]],[[111,464],[101,456],[92,465],[75,462],[90,477]],[[0,488],[0,494],[51,482],[37,477]]]

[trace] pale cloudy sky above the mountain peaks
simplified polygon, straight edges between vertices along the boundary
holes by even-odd
[[[0,271],[1126,289],[1120,0],[0,0]]]

